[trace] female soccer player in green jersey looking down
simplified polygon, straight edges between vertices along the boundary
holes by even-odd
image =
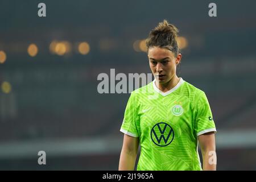
[[[216,170],[212,112],[205,93],[177,77],[181,61],[177,28],[166,20],[146,40],[155,80],[131,93],[121,126],[124,133],[119,170]]]

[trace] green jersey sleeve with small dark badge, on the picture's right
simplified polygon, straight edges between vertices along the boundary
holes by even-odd
[[[214,131],[216,133],[216,126],[213,120],[212,111],[207,100],[207,96],[203,91],[197,94],[197,104],[195,108],[195,132],[196,135],[202,135]]]

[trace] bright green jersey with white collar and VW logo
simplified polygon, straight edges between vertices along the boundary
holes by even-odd
[[[155,80],[134,90],[120,131],[139,137],[137,170],[201,170],[197,137],[216,127],[205,93],[180,78],[168,92]]]

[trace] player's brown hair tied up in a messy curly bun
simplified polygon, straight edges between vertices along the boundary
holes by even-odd
[[[147,49],[150,47],[166,48],[174,53],[175,56],[179,53],[177,46],[177,33],[179,30],[173,25],[163,20],[157,27],[150,31],[150,35],[146,39]]]

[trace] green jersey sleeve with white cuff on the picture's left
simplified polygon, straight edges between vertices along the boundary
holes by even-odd
[[[123,117],[123,122],[120,131],[131,137],[138,137],[138,131],[136,126],[137,119],[137,106],[136,106],[136,96],[134,92],[131,92],[131,96],[127,102],[125,115]]]

